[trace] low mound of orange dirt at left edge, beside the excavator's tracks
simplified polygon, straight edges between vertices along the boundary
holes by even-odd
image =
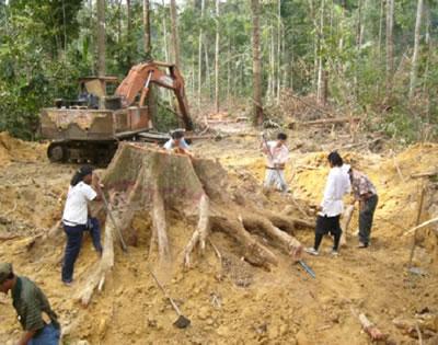
[[[44,159],[45,149],[44,145],[15,139],[7,131],[0,133],[0,164],[2,165],[8,165],[14,161]]]

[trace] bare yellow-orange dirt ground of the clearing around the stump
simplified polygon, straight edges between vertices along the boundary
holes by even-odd
[[[330,138],[312,146],[308,140],[306,135],[291,134],[286,173],[293,196],[303,205],[316,205],[328,172],[325,157],[336,145]],[[60,317],[65,344],[370,344],[356,312],[364,312],[393,344],[418,343],[417,333],[406,334],[394,319],[417,322],[423,344],[438,344],[437,228],[417,235],[414,265],[420,268],[419,275],[407,271],[413,237],[403,235],[415,225],[423,186],[420,220],[438,216],[437,181],[411,177],[438,166],[438,145],[415,145],[397,153],[388,148],[380,153],[341,150],[346,162],[365,171],[377,186],[380,200],[372,244],[367,250],[355,248],[356,211],[347,246],[338,257],[326,253],[330,238],[323,240],[322,255],[304,256],[315,279],[276,250],[278,266],[270,272],[253,267],[220,232],[210,238],[222,261],[208,246],[205,257],[195,255],[194,266],[184,271],[181,257],[192,231],[186,231],[189,225],[171,218],[175,265],[154,271],[192,320],[186,330],[172,325],[175,314],[148,274],[147,218],[135,221],[140,233],[136,248],[124,254],[116,246],[113,274],[87,309],[74,297],[88,279],[88,268],[99,260],[89,237],[76,264],[73,286],[61,284],[64,234],[47,243],[33,239],[59,220],[77,166],[50,164],[45,148],[0,135],[0,261],[12,262],[19,275],[43,288]],[[230,191],[258,196],[273,210],[287,206],[281,195],[261,193],[264,158],[256,135],[195,142],[194,151],[220,160],[229,173]],[[313,242],[312,229],[299,230],[296,237],[304,245]],[[21,330],[10,296],[1,296],[0,304],[0,344],[13,344]],[[435,319],[425,325],[419,321],[422,314]]]

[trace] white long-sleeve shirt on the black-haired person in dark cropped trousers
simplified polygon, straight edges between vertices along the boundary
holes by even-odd
[[[348,174],[339,166],[332,168],[325,184],[324,197],[321,202],[321,214],[327,217],[341,215],[344,210],[343,196],[350,188]]]

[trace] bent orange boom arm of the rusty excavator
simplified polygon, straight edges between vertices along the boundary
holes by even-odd
[[[159,67],[169,69],[169,73],[165,73]],[[173,90],[185,129],[193,130],[193,122],[188,113],[188,104],[185,96],[184,79],[175,65],[159,61],[136,65],[118,85],[115,94],[122,97],[124,106],[129,106],[135,102],[138,93],[141,92],[139,106],[143,106],[151,82]]]

